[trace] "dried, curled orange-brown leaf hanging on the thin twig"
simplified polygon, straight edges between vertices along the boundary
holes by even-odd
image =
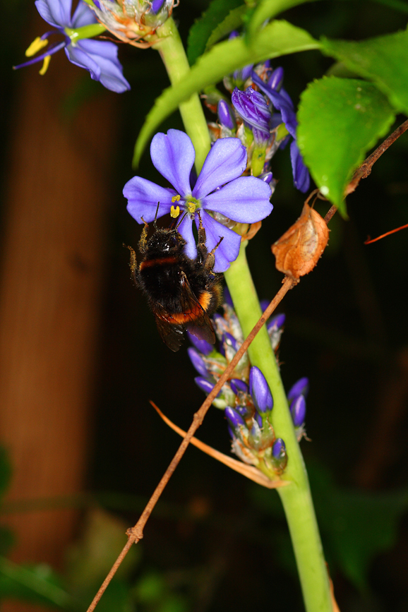
[[[308,274],[328,244],[329,230],[323,217],[305,203],[299,219],[272,244],[276,268],[293,280]]]

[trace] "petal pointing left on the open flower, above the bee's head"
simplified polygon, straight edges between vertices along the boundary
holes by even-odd
[[[147,223],[154,220],[159,202],[157,217],[167,215],[172,207],[172,198],[176,195],[172,189],[160,187],[141,176],[133,176],[124,186],[123,193],[128,200],[128,212],[138,223],[143,223],[142,216]]]

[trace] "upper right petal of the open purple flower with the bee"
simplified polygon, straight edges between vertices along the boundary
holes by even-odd
[[[215,140],[193,188],[193,196],[199,200],[204,198],[217,187],[237,179],[245,169],[246,149],[239,138]]]

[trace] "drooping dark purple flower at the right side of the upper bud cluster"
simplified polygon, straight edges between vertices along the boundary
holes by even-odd
[[[275,73],[277,72],[277,70],[275,71]],[[287,131],[294,138],[294,141],[292,142],[290,147],[293,181],[296,189],[299,189],[299,191],[305,193],[306,191],[308,191],[308,188],[310,186],[310,174],[308,173],[308,169],[304,164],[304,161],[301,157],[301,153],[296,144],[296,112],[294,111],[293,102],[290,99],[289,94],[283,88],[281,88],[280,91],[277,91],[276,89],[276,87],[279,86],[279,82],[276,83],[276,80],[280,79],[282,82],[283,71],[282,78],[281,75],[278,73],[277,78],[274,79],[273,77],[275,73],[272,73],[272,76],[268,83],[264,83],[263,80],[256,74],[256,72],[253,72],[253,83],[258,85],[258,88],[260,88],[260,90],[269,98],[275,109],[280,112],[282,116],[282,121],[285,124]]]

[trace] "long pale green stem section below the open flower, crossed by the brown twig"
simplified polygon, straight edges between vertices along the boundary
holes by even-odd
[[[245,248],[246,243],[241,246],[239,256],[229,270],[224,272],[244,337],[249,334],[261,315],[258,296],[246,261]],[[306,611],[332,612],[328,572],[306,467],[296,440],[279,367],[265,326],[248,348],[248,354],[251,365],[258,366],[268,380],[274,400],[272,423],[277,437],[283,438],[287,448],[288,463],[282,479],[290,481],[291,484],[277,489],[277,492],[282,500],[289,525]]]

